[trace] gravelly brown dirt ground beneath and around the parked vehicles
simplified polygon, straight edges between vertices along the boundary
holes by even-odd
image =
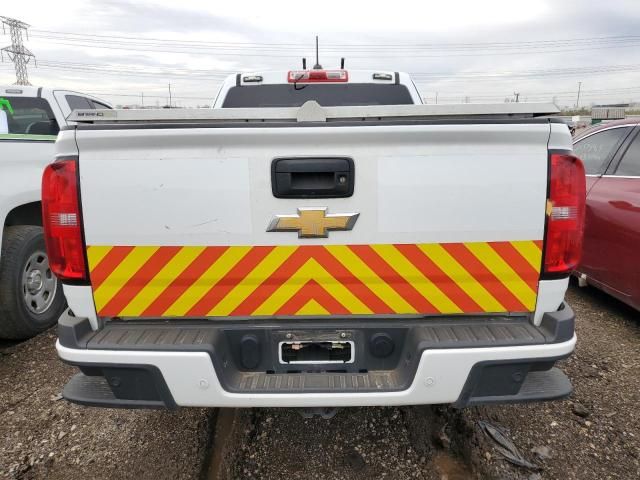
[[[572,396],[465,410],[353,408],[323,420],[86,408],[60,397],[74,369],[57,359],[55,331],[0,343],[0,478],[640,478],[640,313],[590,288],[572,286],[567,300],[578,346],[560,367]]]

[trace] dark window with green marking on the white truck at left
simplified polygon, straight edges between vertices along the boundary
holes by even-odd
[[[57,135],[60,130],[44,98],[1,97],[0,108],[7,115],[9,134]]]

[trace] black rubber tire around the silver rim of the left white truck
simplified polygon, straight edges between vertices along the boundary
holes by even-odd
[[[42,227],[6,227],[0,255],[0,337],[22,340],[54,325],[66,308],[62,284],[56,279],[52,300],[42,313],[32,311],[24,295],[23,273],[36,252],[45,252]],[[47,296],[48,298],[48,296]]]

